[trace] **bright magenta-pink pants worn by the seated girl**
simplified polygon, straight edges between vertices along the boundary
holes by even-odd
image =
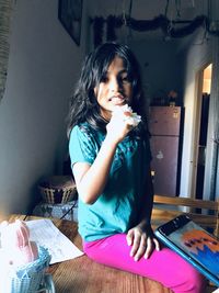
[[[83,243],[83,250],[94,261],[140,274],[162,283],[173,292],[204,293],[206,280],[188,262],[169,248],[153,251],[149,259],[135,261],[129,256],[126,235]]]

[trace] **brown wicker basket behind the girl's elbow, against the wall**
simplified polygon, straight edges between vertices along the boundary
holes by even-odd
[[[50,204],[65,204],[77,195],[76,183],[70,176],[53,176],[44,179],[38,189],[43,201]]]

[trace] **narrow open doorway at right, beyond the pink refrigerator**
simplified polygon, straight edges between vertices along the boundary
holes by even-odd
[[[203,199],[206,176],[206,150],[208,134],[208,117],[210,103],[212,64],[209,64],[198,72],[197,109],[195,123],[194,144],[194,169],[193,169],[193,192],[196,199]]]

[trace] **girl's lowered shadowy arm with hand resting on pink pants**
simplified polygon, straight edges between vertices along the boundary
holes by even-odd
[[[153,185],[150,167],[147,171],[146,188],[146,202],[142,204],[139,224],[127,233],[127,244],[131,246],[130,256],[134,257],[136,261],[142,256],[146,259],[149,258],[154,248],[155,250],[160,250],[159,241],[154,237],[151,228]]]

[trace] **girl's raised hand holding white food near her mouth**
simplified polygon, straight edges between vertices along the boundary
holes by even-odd
[[[125,119],[125,113],[113,112],[110,123],[106,125],[107,138],[118,144],[134,128]]]

